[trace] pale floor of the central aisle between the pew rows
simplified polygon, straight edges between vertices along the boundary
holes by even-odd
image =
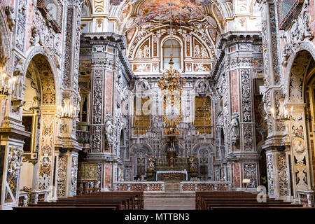
[[[195,193],[144,192],[144,210],[195,210]]]

